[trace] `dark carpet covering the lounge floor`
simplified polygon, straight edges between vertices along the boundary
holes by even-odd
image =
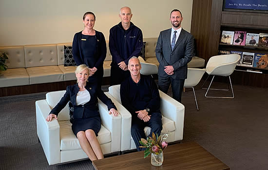
[[[192,90],[183,93],[183,142],[196,141],[231,170],[268,170],[268,89],[233,88],[234,99],[210,99],[199,84],[199,112]],[[0,98],[0,170],[94,170],[90,160],[48,166],[36,133],[35,101],[41,99],[45,93]]]

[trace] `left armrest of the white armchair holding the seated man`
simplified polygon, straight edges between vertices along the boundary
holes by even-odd
[[[131,149],[131,114],[130,112],[109,93],[105,92],[117,108],[117,111],[121,115],[121,151]]]

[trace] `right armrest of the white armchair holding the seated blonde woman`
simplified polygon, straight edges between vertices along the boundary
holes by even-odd
[[[117,106],[116,106],[117,107]],[[98,110],[101,124],[111,132],[111,152],[120,151],[121,144],[121,115],[109,115],[107,105],[98,99]]]

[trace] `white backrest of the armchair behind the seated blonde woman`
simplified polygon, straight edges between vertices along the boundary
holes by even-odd
[[[62,91],[53,91],[46,94],[46,101],[51,109],[53,109],[57,105],[57,103],[63,97],[65,92],[66,90],[62,90]],[[66,104],[66,106],[58,114],[57,121],[61,120],[70,120],[68,104]]]

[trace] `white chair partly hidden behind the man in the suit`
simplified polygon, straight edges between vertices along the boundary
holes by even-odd
[[[189,87],[192,88],[197,111],[199,110],[199,108],[197,105],[197,100],[196,100],[193,87],[200,82],[205,72],[206,72],[206,69],[188,68],[187,79],[185,79],[184,86],[183,86],[185,88],[189,88]]]

